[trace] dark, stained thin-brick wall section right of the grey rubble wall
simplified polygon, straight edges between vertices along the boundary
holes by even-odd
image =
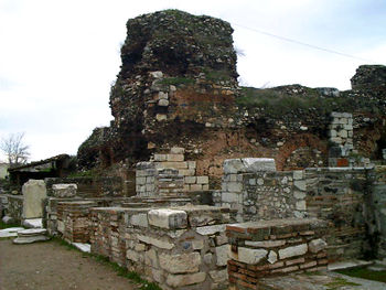
[[[363,168],[307,169],[309,216],[329,221],[330,260],[361,258],[373,250],[366,229],[372,180]]]

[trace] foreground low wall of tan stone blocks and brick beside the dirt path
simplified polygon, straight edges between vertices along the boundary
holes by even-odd
[[[144,273],[162,289],[227,284],[229,208],[93,208],[92,253]]]

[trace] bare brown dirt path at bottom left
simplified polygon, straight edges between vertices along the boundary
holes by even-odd
[[[1,290],[131,290],[130,280],[108,265],[71,250],[57,241],[13,245],[0,240]]]

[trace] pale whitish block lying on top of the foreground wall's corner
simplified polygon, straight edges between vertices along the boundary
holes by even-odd
[[[162,228],[185,228],[187,215],[184,211],[178,210],[151,210],[148,213],[149,224]]]

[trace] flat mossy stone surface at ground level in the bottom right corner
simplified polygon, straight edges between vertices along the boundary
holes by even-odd
[[[320,271],[309,273],[288,275],[281,277],[262,278],[259,289],[269,290],[385,290],[383,282],[349,277],[345,275]]]

